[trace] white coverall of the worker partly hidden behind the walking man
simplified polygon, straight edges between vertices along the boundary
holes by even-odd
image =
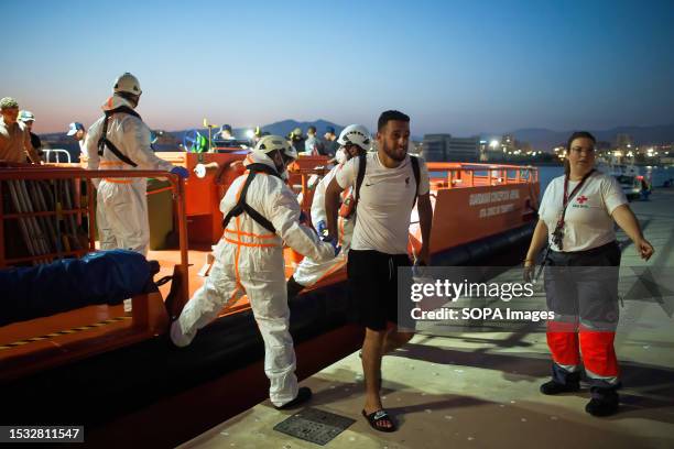
[[[325,211],[325,190],[330,184],[338,171],[341,169],[344,164],[335,166],[327,175],[323,177],[316,185],[314,190],[314,198],[312,200],[312,223],[317,226],[319,221],[327,223],[327,213]],[[341,200],[344,201],[349,195],[351,189],[346,188],[341,193]],[[302,262],[295,269],[293,278],[300,285],[311,287],[322,278],[335,273],[341,267],[346,266],[347,254],[351,244],[351,237],[354,236],[354,225],[356,223],[356,216],[351,216],[348,219],[338,217],[337,230],[338,230],[338,244],[341,245],[341,251],[336,258],[320,262],[313,258],[304,258]]]

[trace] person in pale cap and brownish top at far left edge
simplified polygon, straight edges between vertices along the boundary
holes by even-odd
[[[31,144],[31,134],[26,125],[18,121],[19,103],[11,97],[0,100],[0,161],[41,164],[40,155]]]

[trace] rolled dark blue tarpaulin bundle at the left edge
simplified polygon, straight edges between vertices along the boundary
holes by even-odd
[[[120,304],[145,292],[153,275],[142,254],[127,250],[0,270],[0,326],[91,305]]]

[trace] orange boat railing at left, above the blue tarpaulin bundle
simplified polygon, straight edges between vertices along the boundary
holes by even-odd
[[[171,183],[168,187],[173,191],[173,201],[176,210],[176,228],[178,231],[180,242],[180,255],[181,263],[175,267],[174,274],[182,277],[180,282],[181,291],[180,298],[176,302],[176,306],[184,306],[187,302],[188,294],[188,256],[187,256],[187,220],[185,215],[185,184],[177,175],[162,171],[124,171],[124,169],[101,169],[101,171],[85,171],[78,167],[55,167],[55,166],[36,166],[36,165],[14,165],[6,164],[0,167],[0,269],[7,266],[13,266],[18,264],[41,264],[50,263],[55,259],[62,259],[67,256],[81,256],[90,251],[96,251],[96,213],[94,196],[88,194],[94,191],[93,179],[97,178],[165,178]],[[26,188],[26,180],[43,180],[48,183],[56,183],[58,180],[72,180],[74,195],[70,196],[74,200],[69,201],[69,207],[57,201],[41,201],[42,207],[37,207],[26,202],[24,199],[29,198],[29,191],[33,191],[32,187]],[[86,195],[81,191],[81,182],[86,183]],[[6,194],[3,190],[8,189]],[[21,190],[20,190],[21,189]],[[19,191],[23,194],[21,197],[18,196]],[[44,193],[43,193],[44,194]],[[12,202],[12,195],[18,199],[17,204],[21,204],[22,207],[19,211],[6,210],[3,198],[10,199],[8,202]],[[30,194],[33,195],[33,194]],[[42,194],[39,195],[39,197]],[[33,196],[34,197],[34,196]],[[44,198],[42,198],[44,199]],[[45,208],[45,202],[53,202],[52,208]],[[17,209],[17,208],[14,208]],[[44,227],[40,223],[45,217],[56,216],[58,220],[63,220],[70,217],[75,217],[76,223],[81,225],[83,220],[87,220],[88,232],[87,243],[81,244],[79,249],[69,249],[68,245],[58,244],[61,240],[57,240],[55,250],[50,251],[48,245],[42,244],[41,239],[46,239]],[[24,227],[26,236],[32,238],[32,251],[29,249],[29,255],[22,255],[19,258],[8,258],[6,248],[6,221],[18,220],[20,228]],[[31,230],[37,231],[37,236],[34,236]],[[56,230],[57,233],[58,230]],[[77,239],[77,236],[75,236]],[[84,240],[84,239],[83,239]],[[83,241],[84,243],[84,241]]]

